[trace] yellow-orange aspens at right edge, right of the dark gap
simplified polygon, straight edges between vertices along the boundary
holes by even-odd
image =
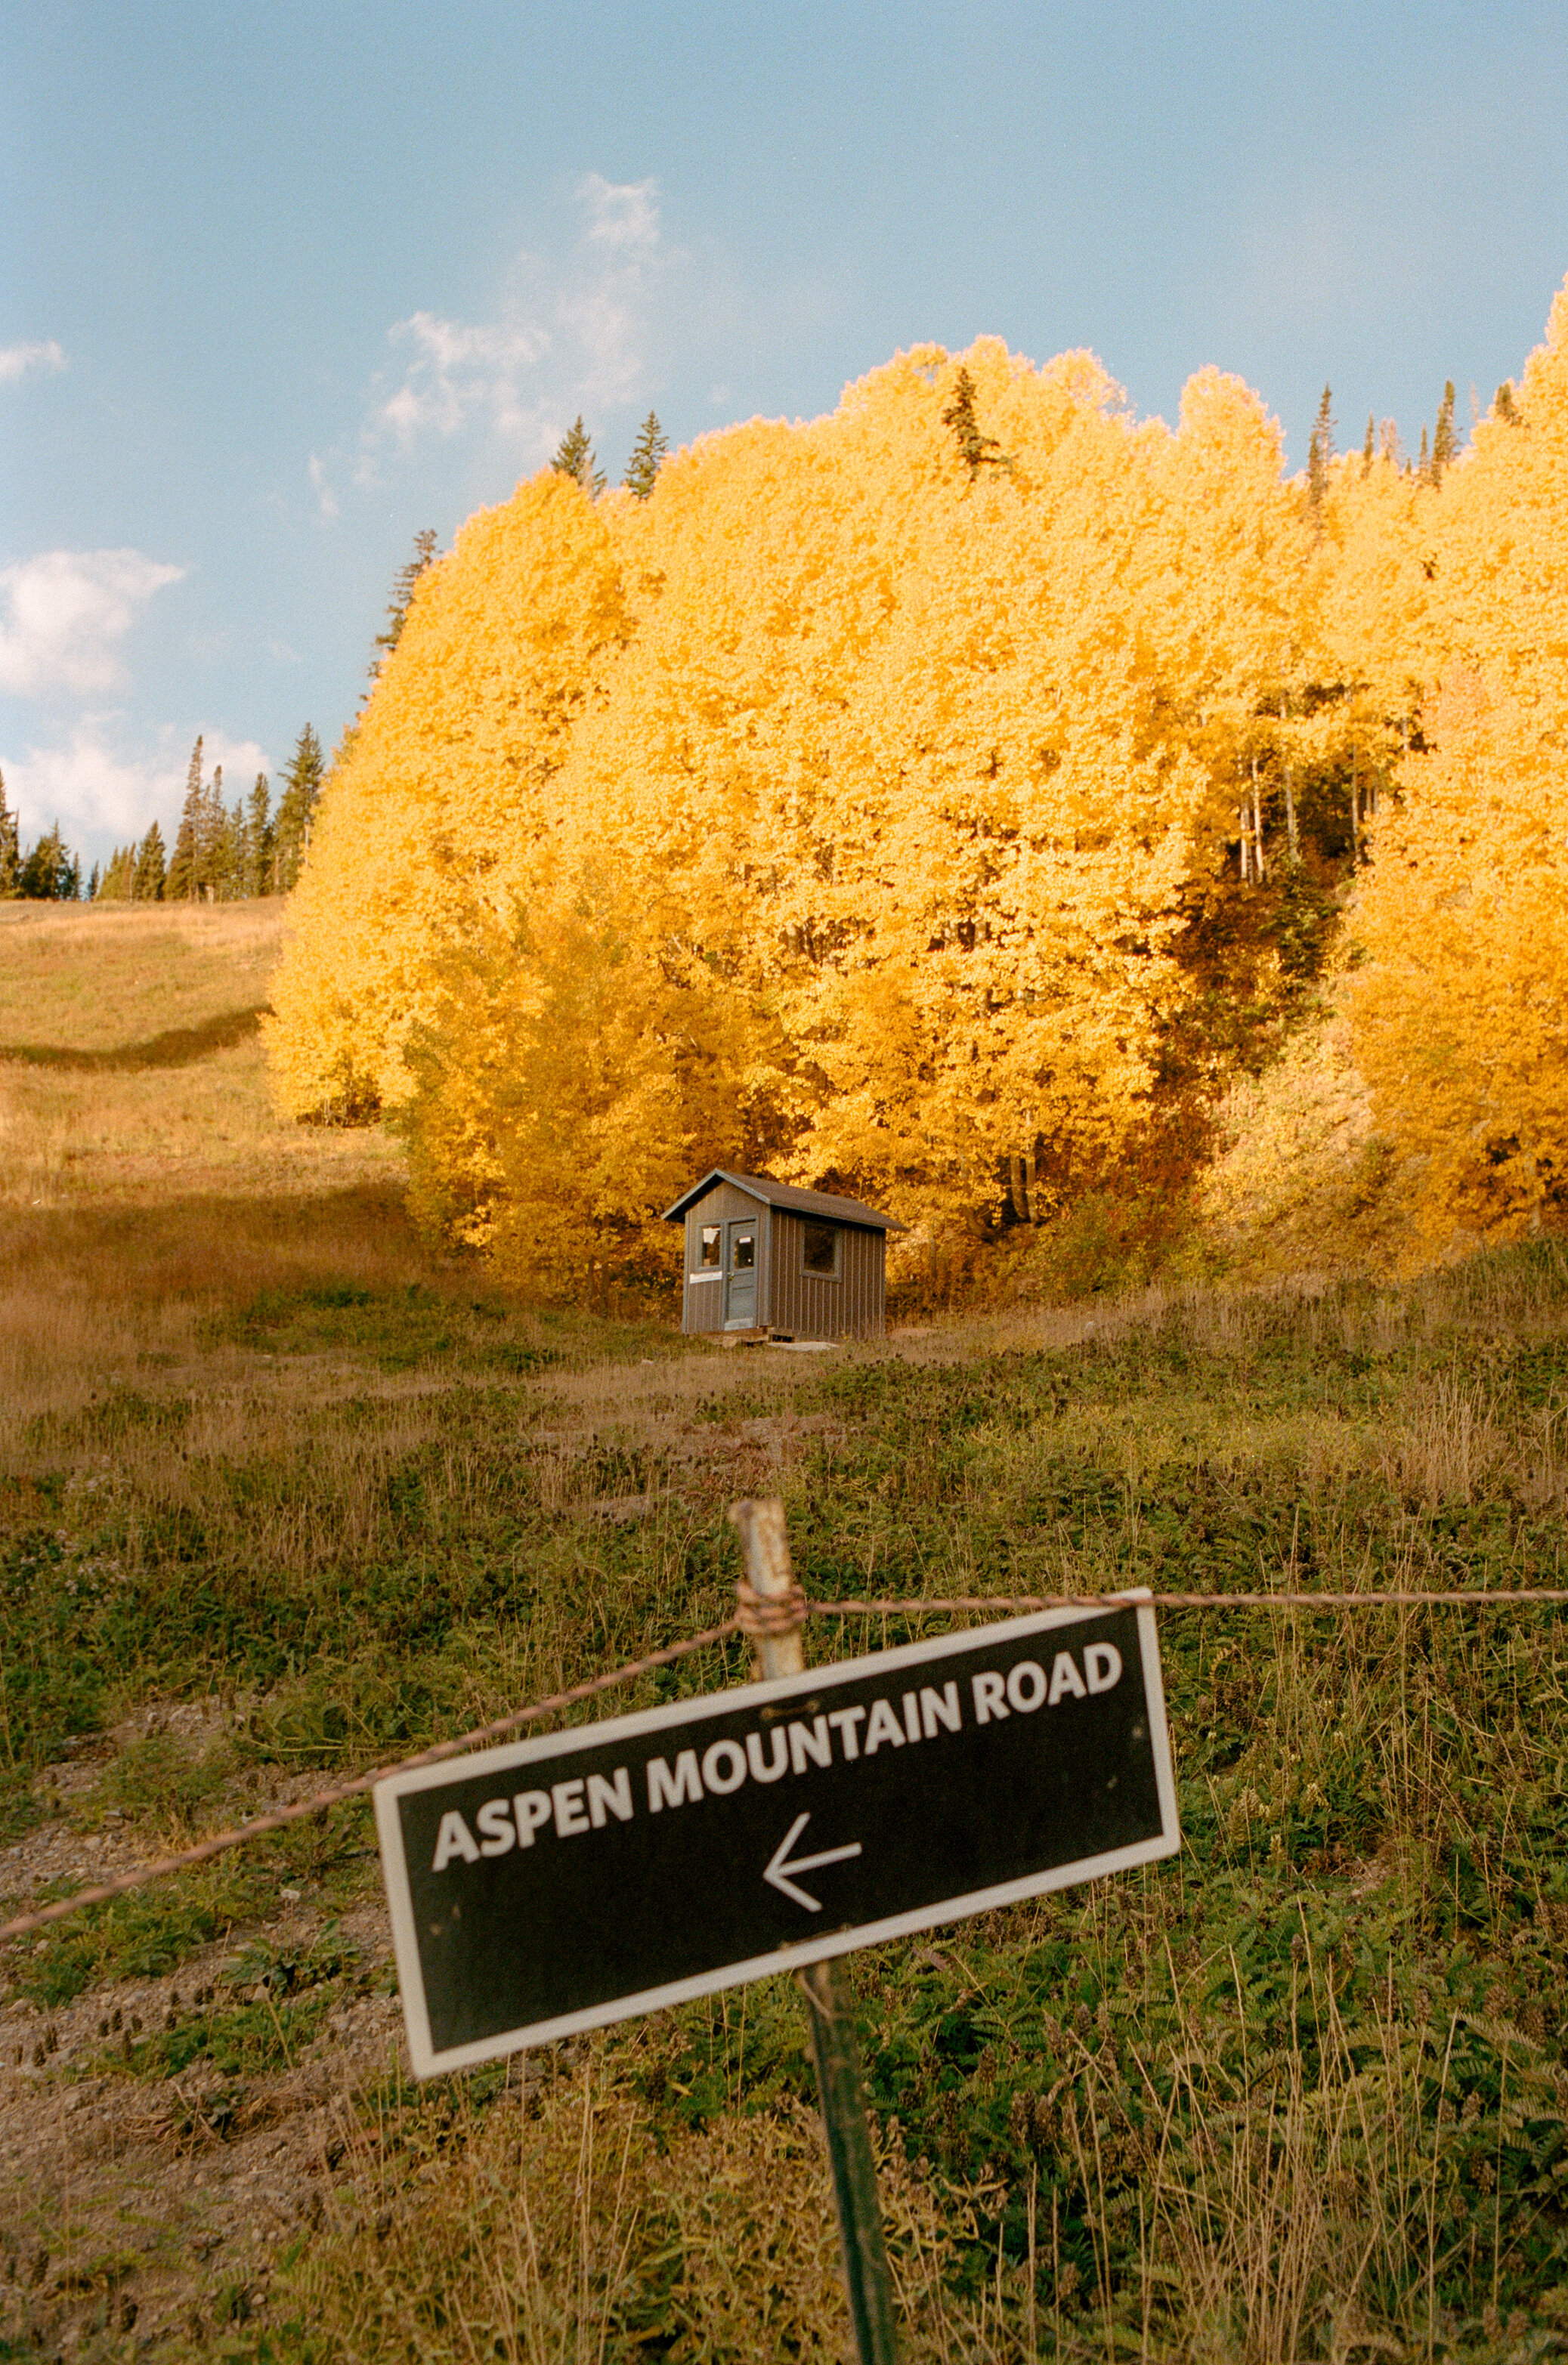
[[[1412,1265],[1568,1204],[1568,286],[1426,504],[1438,667],[1350,979]]]

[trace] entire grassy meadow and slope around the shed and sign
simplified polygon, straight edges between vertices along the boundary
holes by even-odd
[[[277,946],[0,911],[0,1913],[721,1620],[743,1492],[823,1596],[1568,1582],[1561,1242],[821,1358],[546,1313],[274,1119]],[[1563,1613],[1161,1646],[1183,1854],[849,1961],[903,2353],[1561,2353]],[[364,1804],[0,1951],[0,2358],[842,2356],[790,1982],[423,2088],[393,1994]]]

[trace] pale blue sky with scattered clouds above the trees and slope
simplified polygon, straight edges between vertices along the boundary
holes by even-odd
[[[901,345],[1407,445],[1568,274],[1551,5],[0,0],[0,766],[88,861],[331,747],[414,532]]]

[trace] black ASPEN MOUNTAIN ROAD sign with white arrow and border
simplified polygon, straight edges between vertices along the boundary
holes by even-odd
[[[414,2069],[1175,1854],[1154,1611],[1045,1611],[376,1786]]]

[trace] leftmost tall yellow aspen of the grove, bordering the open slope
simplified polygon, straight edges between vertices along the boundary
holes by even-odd
[[[433,963],[539,868],[549,783],[627,636],[608,520],[556,471],[468,520],[333,764],[272,986],[296,1116],[397,1107]]]

